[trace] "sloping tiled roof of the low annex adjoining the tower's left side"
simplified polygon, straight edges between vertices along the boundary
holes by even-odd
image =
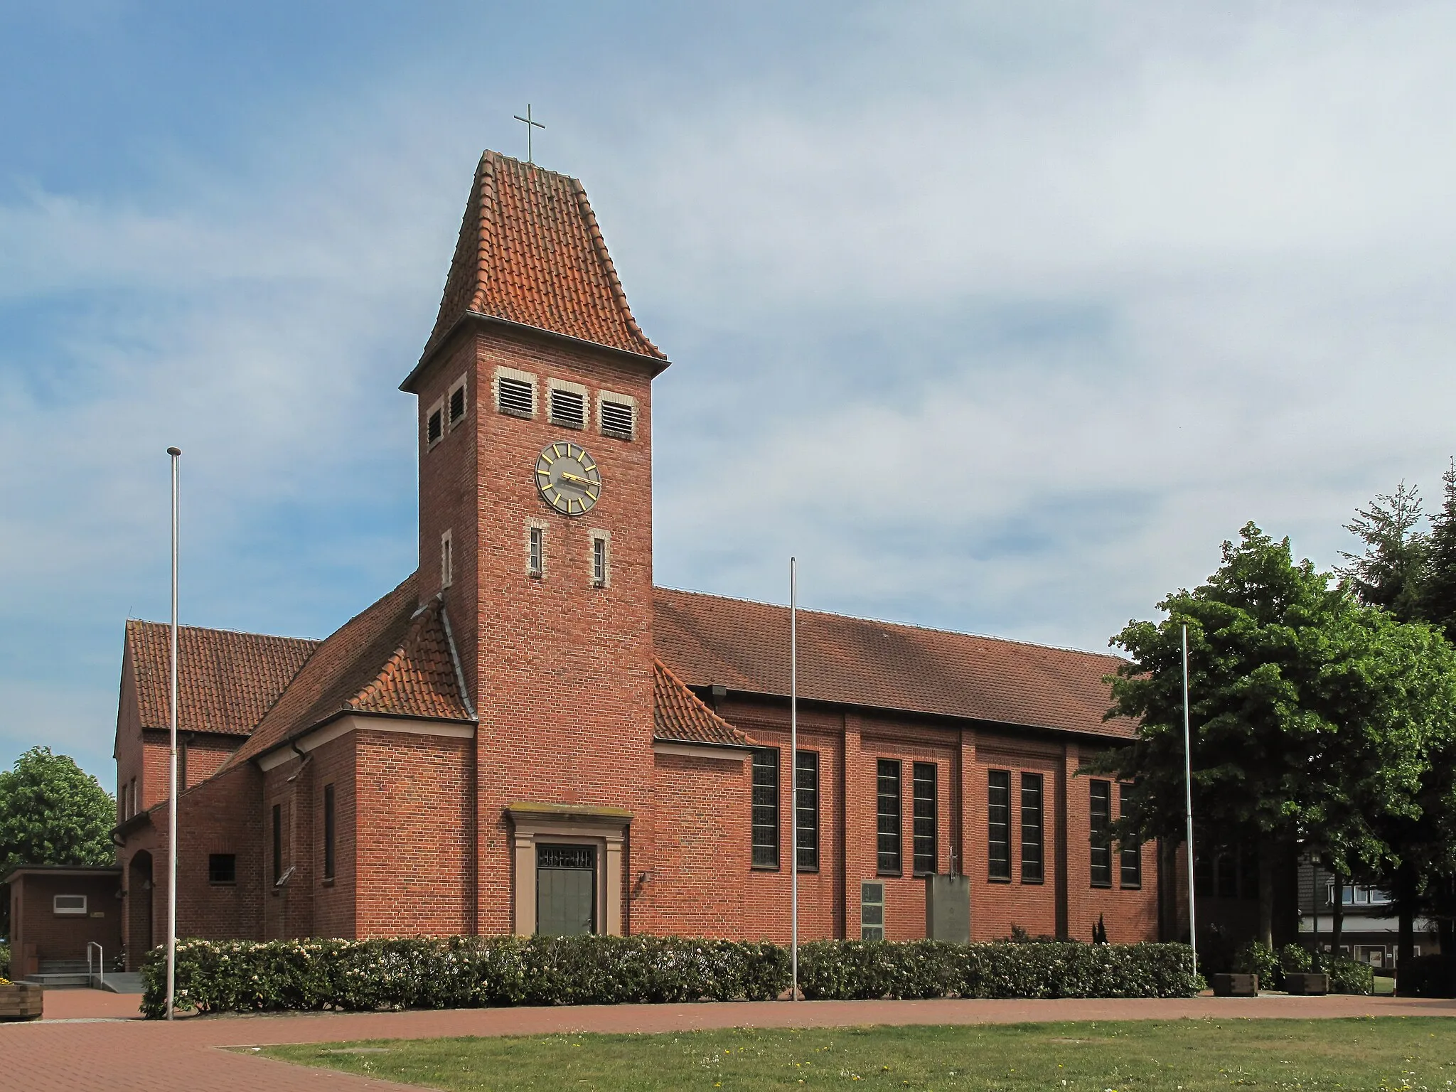
[[[411,575],[319,645],[227,766],[341,712],[473,719],[460,695],[440,601],[416,607],[415,588]]]

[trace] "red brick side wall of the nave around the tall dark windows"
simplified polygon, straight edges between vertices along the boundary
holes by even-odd
[[[722,702],[718,712],[754,740],[780,751],[780,868],[744,868],[744,938],[788,939],[789,811],[788,706],[747,697]],[[1095,744],[1085,744],[1095,750]],[[1123,888],[1112,855],[1112,887],[1093,888],[1091,874],[1089,778],[1079,776],[1083,744],[1051,734],[973,729],[911,716],[878,716],[801,706],[799,750],[820,754],[820,872],[799,878],[799,936],[859,935],[859,884],[885,884],[885,936],[925,935],[925,881],[913,875],[914,763],[936,767],[936,869],[957,868],[971,879],[971,938],[1008,936],[1012,926],[1028,933],[1067,935],[1089,941],[1101,914],[1115,942],[1158,939],[1158,859],[1155,846],[1142,852],[1142,887]],[[1088,751],[1091,753],[1091,751]],[[901,872],[879,875],[877,846],[877,772],[879,759],[901,764]],[[1010,773],[1010,881],[989,875],[989,772]],[[1042,778],[1042,881],[1024,882],[1021,775]],[[748,788],[743,789],[748,799]],[[1114,817],[1117,792],[1114,786]],[[664,830],[668,820],[661,820]],[[747,846],[748,817],[725,846]],[[724,853],[724,860],[737,862]],[[729,881],[731,882],[731,881]],[[667,930],[671,922],[664,920]]]

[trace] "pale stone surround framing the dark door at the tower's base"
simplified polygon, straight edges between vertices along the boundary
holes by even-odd
[[[622,936],[622,846],[632,812],[596,804],[511,804],[514,827],[515,935],[536,933],[536,843],[565,842],[597,847],[597,930]]]

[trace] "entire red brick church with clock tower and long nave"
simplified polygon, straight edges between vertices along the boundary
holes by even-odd
[[[486,153],[418,402],[419,566],[325,641],[181,630],[178,932],[1156,939],[1155,846],[1082,760],[1108,655],[652,582],[652,384],[581,183]],[[165,939],[167,629],[116,719],[128,962]],[[791,808],[798,844],[789,844]],[[1165,906],[1169,904],[1169,906]],[[1162,932],[1168,932],[1165,927]]]

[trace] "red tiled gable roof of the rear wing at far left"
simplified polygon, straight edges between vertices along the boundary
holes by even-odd
[[[170,727],[172,639],[163,622],[127,622],[143,728]],[[178,729],[248,735],[317,641],[178,626]]]

